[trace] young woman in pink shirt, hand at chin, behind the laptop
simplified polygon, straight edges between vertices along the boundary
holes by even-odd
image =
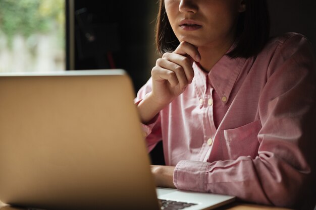
[[[266,0],[160,0],[162,58],[135,99],[148,150],[163,141],[158,186],[306,206],[313,52],[269,27]]]

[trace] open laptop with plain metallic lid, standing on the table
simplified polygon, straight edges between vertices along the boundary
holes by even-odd
[[[78,210],[232,202],[155,187],[134,98],[122,69],[0,74],[0,200]]]

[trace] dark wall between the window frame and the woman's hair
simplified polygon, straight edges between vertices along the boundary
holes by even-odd
[[[154,4],[135,1],[75,1],[75,69],[123,68],[135,91],[148,79],[148,12]]]

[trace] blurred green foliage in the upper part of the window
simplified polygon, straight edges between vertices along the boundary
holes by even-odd
[[[15,34],[65,31],[65,0],[0,0],[0,30],[9,45]]]

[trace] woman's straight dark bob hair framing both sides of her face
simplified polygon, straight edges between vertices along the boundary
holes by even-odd
[[[246,11],[239,15],[236,47],[228,53],[231,58],[257,55],[269,39],[270,18],[267,0],[245,0]],[[159,0],[156,21],[156,47],[163,54],[174,51],[180,44],[169,23],[164,0]]]

